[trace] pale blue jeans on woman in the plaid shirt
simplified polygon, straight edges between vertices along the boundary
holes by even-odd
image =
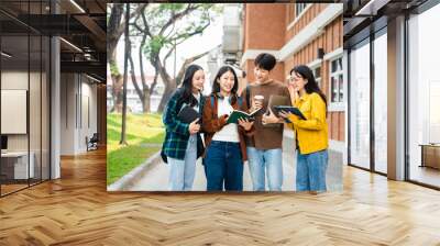
[[[197,135],[190,135],[185,152],[185,159],[168,157],[169,165],[169,190],[191,190],[196,175],[197,160]]]

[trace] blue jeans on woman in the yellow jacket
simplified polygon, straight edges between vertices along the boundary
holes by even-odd
[[[326,191],[327,149],[302,155],[297,152],[296,190]]]

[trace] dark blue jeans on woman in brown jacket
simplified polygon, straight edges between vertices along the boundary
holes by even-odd
[[[243,160],[239,143],[212,141],[205,158],[208,191],[243,190]]]

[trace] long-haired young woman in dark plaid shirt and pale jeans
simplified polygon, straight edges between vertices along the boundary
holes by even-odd
[[[169,165],[169,190],[191,190],[196,172],[196,160],[205,148],[200,137],[201,119],[184,123],[177,114],[185,105],[193,107],[200,114],[204,109],[205,72],[198,65],[190,65],[184,76],[182,87],[170,97],[165,107],[163,122],[166,128],[163,157]],[[166,156],[166,158],[165,158]]]

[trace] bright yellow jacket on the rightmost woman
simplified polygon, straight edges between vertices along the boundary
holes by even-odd
[[[287,126],[296,132],[299,152],[310,154],[327,149],[329,146],[326,103],[318,93],[306,93],[294,103],[307,120],[290,114]]]

